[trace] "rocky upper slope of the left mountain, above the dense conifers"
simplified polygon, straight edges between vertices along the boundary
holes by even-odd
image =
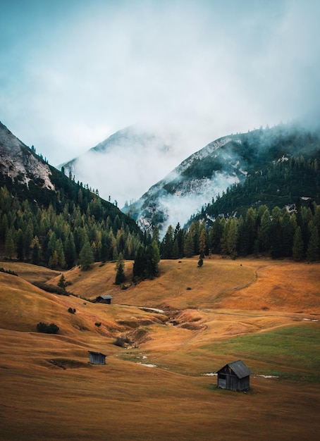
[[[41,154],[36,154],[33,147],[27,147],[21,142],[2,123],[0,123],[1,187],[6,187],[8,211],[13,209],[11,207],[13,199],[16,199],[17,204],[27,200],[38,209],[48,209],[52,206],[57,215],[68,210],[69,221],[74,219],[73,209],[75,209],[82,214],[94,213],[97,223],[103,222],[109,216],[111,224],[116,220],[115,231],[121,228],[123,223],[124,226],[128,225],[130,231],[141,234],[132,218],[126,216],[114,204],[101,199],[88,187],[78,185],[74,180],[63,175],[61,171],[47,163]],[[87,211],[90,204],[91,209]],[[5,210],[0,214],[4,215]],[[12,226],[16,228],[16,224]]]

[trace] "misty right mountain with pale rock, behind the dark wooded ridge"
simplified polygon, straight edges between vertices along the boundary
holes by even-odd
[[[269,168],[276,163],[286,164],[299,156],[303,156],[302,162],[316,159],[319,163],[319,151],[319,132],[304,130],[297,125],[278,125],[221,137],[185,159],[138,201],[125,206],[123,211],[132,216],[142,229],[157,225],[164,232],[168,225],[174,227],[178,222],[181,225],[187,223],[192,213],[201,211],[211,202],[214,204],[227,189],[254,176],[270,173]],[[283,167],[283,176],[285,173]],[[309,173],[308,169],[306,173]],[[284,182],[288,197],[281,197],[283,192],[276,187],[271,205],[284,206],[297,197],[319,199],[319,178],[312,182],[309,182],[308,188],[297,185],[293,179]],[[294,187],[294,192],[290,186]],[[245,205],[246,199],[247,195],[242,194],[233,211]],[[260,199],[256,192],[250,204],[259,205]]]

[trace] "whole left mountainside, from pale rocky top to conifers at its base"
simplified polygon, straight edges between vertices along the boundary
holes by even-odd
[[[64,269],[133,259],[142,240],[132,218],[0,125],[1,254]]]

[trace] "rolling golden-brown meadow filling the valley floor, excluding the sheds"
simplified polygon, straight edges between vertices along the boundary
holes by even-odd
[[[319,263],[161,261],[158,278],[130,285],[132,266],[125,290],[115,263],[64,272],[67,297],[32,285],[56,285],[58,271],[0,262],[18,273],[0,273],[1,440],[317,437]],[[111,305],[90,302],[103,294]],[[59,334],[37,333],[39,321]],[[132,344],[116,346],[119,336]],[[89,364],[89,350],[106,365]],[[237,359],[250,390],[217,389],[205,374]]]

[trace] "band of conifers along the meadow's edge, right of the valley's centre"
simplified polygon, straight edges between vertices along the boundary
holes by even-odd
[[[192,221],[188,230],[170,225],[160,244],[163,259],[197,254],[223,254],[233,258],[268,254],[273,259],[320,259],[320,206],[301,199],[291,211],[275,206],[250,207],[245,216],[216,216]]]

